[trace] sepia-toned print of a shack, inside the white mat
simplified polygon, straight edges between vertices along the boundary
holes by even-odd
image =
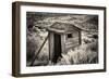
[[[26,66],[98,63],[98,15],[26,12]]]

